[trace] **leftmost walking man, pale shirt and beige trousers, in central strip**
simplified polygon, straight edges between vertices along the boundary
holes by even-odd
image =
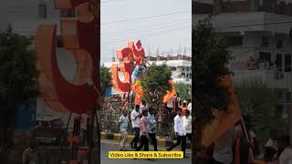
[[[129,118],[127,117],[127,111],[123,111],[123,115],[119,119],[120,125],[120,150],[125,150],[125,144],[128,137],[128,122]]]

